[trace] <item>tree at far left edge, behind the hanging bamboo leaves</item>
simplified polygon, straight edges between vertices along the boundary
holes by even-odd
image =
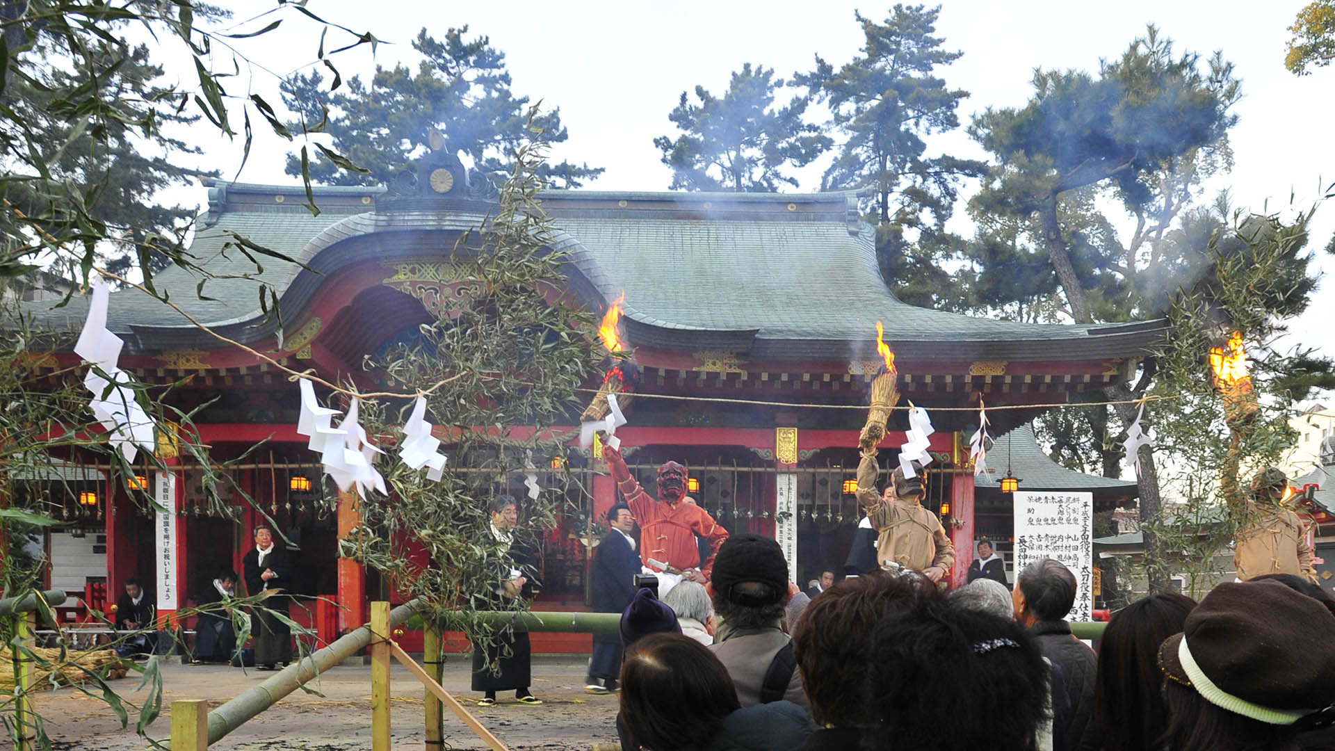
[[[195,216],[194,207],[163,203],[162,191],[218,172],[190,167],[199,147],[168,135],[199,116],[167,104],[171,92],[158,83],[163,68],[150,59],[147,45],[100,44],[87,53],[85,67],[71,69],[56,60],[63,52],[52,40],[37,36],[25,56],[52,64],[29,64],[5,87],[12,115],[4,123],[9,134],[0,139],[0,154],[40,163],[36,171],[48,175],[12,180],[5,196],[25,215],[45,218],[37,226],[53,237],[68,218],[61,204],[77,200],[107,235],[97,249],[107,269],[124,273],[140,262],[136,249],[142,249],[148,271],[158,271],[170,259],[152,249],[176,242]],[[88,68],[101,75],[89,78]],[[87,114],[71,110],[68,98],[79,91],[99,99]],[[56,184],[69,187],[55,195],[47,191]]]

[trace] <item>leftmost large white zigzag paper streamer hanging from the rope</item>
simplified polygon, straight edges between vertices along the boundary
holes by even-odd
[[[84,374],[84,386],[92,393],[88,409],[107,429],[108,444],[132,462],[139,449],[155,449],[158,426],[136,401],[134,378],[116,366],[124,341],[107,330],[111,289],[100,275],[92,277],[91,286],[88,317],[75,343],[75,354],[92,365]]]

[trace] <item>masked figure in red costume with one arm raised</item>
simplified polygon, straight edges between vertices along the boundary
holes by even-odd
[[[649,559],[665,563],[682,572],[690,581],[708,580],[709,572],[714,568],[714,556],[728,539],[728,531],[686,496],[686,468],[676,461],[658,468],[659,500],[655,501],[630,476],[621,452],[603,446],[602,458],[607,461],[617,488],[626,497],[626,505],[639,524],[639,560],[654,571],[662,571],[662,567],[650,564]],[[700,564],[697,535],[709,541],[709,557],[698,572],[696,571]]]

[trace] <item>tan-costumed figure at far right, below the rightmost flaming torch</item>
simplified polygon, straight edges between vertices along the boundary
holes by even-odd
[[[1232,484],[1236,489],[1236,482]],[[1307,544],[1307,525],[1283,504],[1288,477],[1267,466],[1252,478],[1251,497],[1235,502],[1244,509],[1234,567],[1238,579],[1247,581],[1264,573],[1292,573],[1315,580],[1312,548]],[[1240,494],[1235,490],[1235,496]]]

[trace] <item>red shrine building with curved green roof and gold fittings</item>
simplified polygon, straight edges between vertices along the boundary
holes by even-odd
[[[200,322],[288,367],[370,385],[363,355],[445,314],[462,294],[445,258],[495,207],[465,183],[461,174],[445,192],[423,187],[413,195],[316,187],[320,212],[312,216],[302,186],[215,182],[191,246],[219,277],[203,287],[208,299],[196,295],[199,279],[179,267],[162,271],[155,285]],[[882,367],[876,321],[896,355],[901,404],[926,408],[936,428],[925,504],[945,512],[960,552],[956,583],[964,581],[980,533],[1000,540],[1008,533],[1007,498],[995,480],[976,484],[969,466],[980,400],[988,408],[1032,405],[989,412],[1000,437],[1049,405],[1128,380],[1164,335],[1161,321],[1035,325],[906,305],[881,278],[874,230],[860,219],[852,192],[551,190],[541,198],[559,229],[553,246],[570,255],[569,290],[595,313],[625,293],[621,330],[643,367],[641,396],[617,432],[633,470],[649,484],[658,464],[680,461],[690,469],[690,494],[729,531],[796,533],[794,579],[804,587],[822,568],[840,571],[860,518],[850,482],[869,384]],[[306,269],[266,257],[256,274],[243,254],[226,250],[235,235]],[[278,291],[282,343],[252,278]],[[87,297],[51,305],[28,310],[47,326],[79,330]],[[286,373],[219,345],[135,290],[112,293],[108,327],[125,341],[123,369],[154,384],[188,380],[172,404],[204,405],[195,421],[215,460],[244,454],[227,472],[299,548],[291,551],[302,572],[294,589],[340,605],[310,616],[320,639],[364,623],[370,599],[394,596],[375,572],[338,557],[339,536],[359,518],[356,496],[336,492],[295,432],[298,389]],[[53,371],[77,363],[64,353],[47,365]],[[697,401],[702,397],[733,401]],[[894,412],[880,454],[886,470],[905,429],[904,412]],[[258,441],[266,444],[247,454]],[[1037,445],[1024,450],[1025,462],[1036,458]],[[1012,452],[1020,460],[1019,442]],[[48,551],[71,553],[52,555],[48,583],[79,591],[80,580],[95,585],[104,577],[112,600],[129,576],[152,588],[159,563],[150,509],[107,480],[105,466],[60,458],[77,478],[68,484],[85,492],[56,510],[61,527],[49,533]],[[179,508],[171,576],[184,604],[220,568],[240,569],[260,517],[240,500],[235,513],[216,514],[203,504],[198,465],[186,456],[170,461]],[[988,465],[1007,466],[996,450]],[[545,457],[541,469],[539,485],[579,510],[561,516],[543,541],[546,589],[534,607],[581,609],[589,541],[605,529],[595,520],[617,490],[601,461],[577,446]],[[523,494],[522,480],[511,481],[515,496]],[[1025,489],[1040,486],[1037,478],[1021,480]],[[1109,502],[1133,496],[1125,484],[1107,490]],[[543,637],[541,644],[535,637],[535,651],[578,649],[589,639]]]

